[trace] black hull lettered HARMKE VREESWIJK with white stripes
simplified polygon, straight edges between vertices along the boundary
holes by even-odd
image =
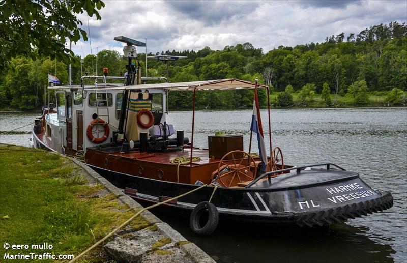
[[[158,203],[166,197],[175,197],[199,187],[89,166],[116,187],[126,189],[125,193],[141,202]],[[344,186],[347,186],[347,189]],[[335,189],[344,190],[334,193]],[[355,173],[336,180],[300,187],[218,187],[215,190],[214,186],[208,186],[180,198],[177,202],[164,205],[175,211],[190,213],[196,204],[208,201],[212,195],[211,202],[217,207],[221,220],[308,227],[331,225],[393,206],[393,197],[389,192],[371,189]]]

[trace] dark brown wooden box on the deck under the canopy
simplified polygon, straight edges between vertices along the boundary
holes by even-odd
[[[208,147],[209,158],[221,159],[230,151],[243,151],[243,135],[208,136]],[[242,158],[242,155],[235,154],[235,158]]]

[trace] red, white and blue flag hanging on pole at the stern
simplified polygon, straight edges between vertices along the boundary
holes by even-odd
[[[250,130],[257,134],[257,142],[258,142],[258,150],[259,150],[260,159],[261,159],[261,167],[263,168],[263,171],[265,171],[266,164],[267,164],[267,153],[266,153],[266,145],[264,143],[263,127],[261,126],[260,106],[258,105],[257,87],[254,89],[253,116],[251,119]]]

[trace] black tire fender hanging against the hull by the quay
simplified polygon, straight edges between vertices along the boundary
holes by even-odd
[[[204,226],[201,226],[200,217],[206,210],[208,210],[208,221]],[[218,209],[213,203],[206,201],[198,203],[189,217],[189,225],[191,226],[192,231],[198,235],[211,235],[218,226],[218,223]]]

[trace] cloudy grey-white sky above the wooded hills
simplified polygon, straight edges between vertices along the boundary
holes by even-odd
[[[266,53],[278,46],[321,43],[327,36],[358,34],[372,25],[407,21],[407,0],[310,1],[111,1],[101,20],[89,17],[92,53],[103,49],[122,54],[116,36],[144,42],[147,52],[212,50],[250,42]],[[88,30],[86,14],[78,15]],[[72,44],[75,54],[91,53],[90,41]],[[145,52],[138,47],[137,52]]]

